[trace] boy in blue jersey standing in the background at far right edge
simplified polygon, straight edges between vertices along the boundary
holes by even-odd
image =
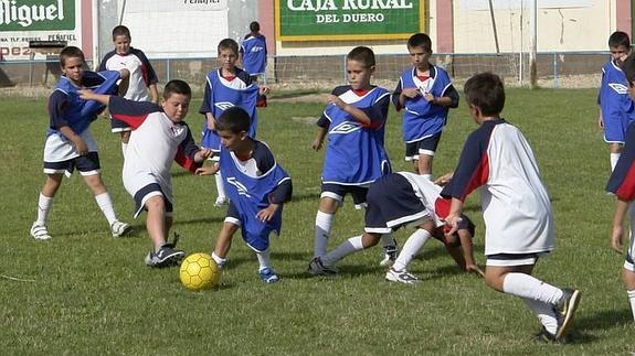
[[[602,67],[602,84],[597,101],[600,118],[597,123],[604,130],[604,141],[611,151],[611,171],[622,153],[628,125],[633,120],[634,104],[628,97],[628,83],[622,63],[631,54],[631,40],[624,32],[617,31],[608,37],[611,61]]]

